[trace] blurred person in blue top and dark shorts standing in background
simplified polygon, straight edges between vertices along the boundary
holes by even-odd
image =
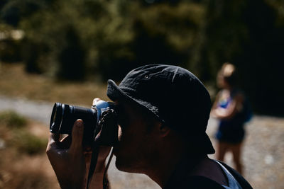
[[[244,141],[244,123],[249,119],[247,100],[236,87],[237,75],[233,64],[225,63],[217,75],[217,86],[222,88],[212,106],[211,115],[219,119],[217,159],[224,161],[226,152],[231,151],[236,171],[243,173],[241,147]]]

